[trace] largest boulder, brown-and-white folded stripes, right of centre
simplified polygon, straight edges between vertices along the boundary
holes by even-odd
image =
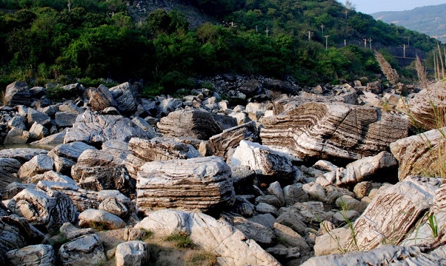
[[[281,115],[266,117],[264,145],[304,160],[358,160],[387,151],[406,138],[408,120],[378,108],[344,103],[303,103]]]

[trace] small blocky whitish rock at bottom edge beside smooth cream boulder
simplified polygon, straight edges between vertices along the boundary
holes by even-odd
[[[116,266],[144,266],[149,261],[149,246],[142,241],[118,244],[115,251]]]

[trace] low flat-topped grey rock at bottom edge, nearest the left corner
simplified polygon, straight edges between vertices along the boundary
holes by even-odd
[[[56,253],[49,244],[37,244],[22,249],[14,249],[5,254],[10,265],[53,266]]]

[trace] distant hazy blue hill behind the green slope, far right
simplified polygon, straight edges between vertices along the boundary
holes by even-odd
[[[379,12],[372,16],[383,22],[404,26],[413,31],[426,33],[443,43],[446,42],[446,3],[413,10]]]

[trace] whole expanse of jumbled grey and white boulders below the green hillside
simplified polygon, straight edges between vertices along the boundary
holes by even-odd
[[[446,265],[446,85],[363,83],[12,83],[0,143],[31,147],[0,150],[0,264],[147,265],[151,232],[218,265]]]

